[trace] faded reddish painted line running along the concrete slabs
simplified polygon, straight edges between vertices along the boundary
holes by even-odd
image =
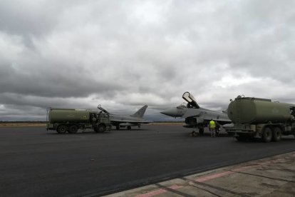
[[[295,156],[295,153],[291,154],[291,156]],[[211,174],[209,176],[203,176],[203,177],[200,177],[200,178],[197,178],[195,179],[196,182],[205,182],[205,181],[209,181],[209,180],[212,180],[214,178],[219,178],[219,177],[222,177],[222,176],[227,176],[229,174],[232,174],[232,173],[238,173],[238,172],[242,172],[242,171],[245,171],[249,168],[254,168],[254,167],[259,167],[259,166],[264,166],[264,165],[267,165],[267,164],[271,164],[271,163],[277,163],[277,162],[280,162],[280,161],[286,161],[285,159],[282,159],[282,158],[276,158],[276,159],[272,159],[272,160],[269,160],[269,161],[264,161],[262,163],[259,163],[259,164],[254,164],[252,166],[244,166],[244,167],[241,167],[241,168],[234,168],[232,170],[229,170],[229,171],[224,171],[222,173],[214,173],[214,174]],[[170,189],[173,189],[173,190],[178,190],[180,188],[183,188],[183,186],[177,186],[177,185],[173,185],[173,186],[169,186],[168,188]],[[165,188],[160,188],[156,191],[151,191],[149,193],[144,193],[144,194],[139,194],[135,197],[150,197],[150,196],[157,196],[161,193],[166,193],[167,190]]]

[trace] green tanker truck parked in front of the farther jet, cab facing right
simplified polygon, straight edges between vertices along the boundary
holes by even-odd
[[[48,108],[47,131],[77,133],[78,129],[91,128],[97,133],[110,131],[110,116],[102,111],[71,108]]]

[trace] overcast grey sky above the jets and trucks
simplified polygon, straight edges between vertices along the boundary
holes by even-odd
[[[295,103],[295,1],[0,1],[0,121],[46,107],[145,118],[239,94]]]

